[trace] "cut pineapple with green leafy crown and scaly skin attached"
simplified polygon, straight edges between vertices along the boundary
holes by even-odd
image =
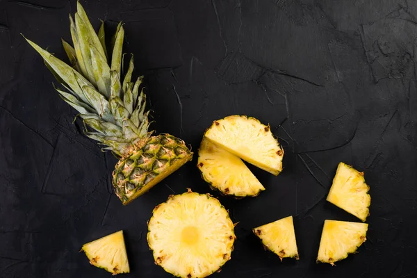
[[[120,158],[113,172],[113,186],[122,203],[129,204],[190,161],[193,153],[183,140],[169,134],[152,136],[154,131],[148,130],[146,95],[143,88],[140,90],[142,76],[132,81],[133,56],[122,79],[122,24],[117,26],[107,51],[104,24],[97,35],[79,2],[74,18],[70,15],[74,47],[63,41],[71,66],[26,40],[67,89],[56,88],[90,128],[85,129],[85,135]]]

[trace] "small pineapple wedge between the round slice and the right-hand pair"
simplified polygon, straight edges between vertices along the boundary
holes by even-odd
[[[277,254],[281,261],[282,258],[299,259],[293,216],[264,224],[253,231],[262,240],[265,249]]]

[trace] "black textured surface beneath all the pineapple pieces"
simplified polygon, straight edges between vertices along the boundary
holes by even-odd
[[[242,113],[270,123],[284,145],[278,177],[254,169],[266,188],[259,197],[220,197],[238,240],[213,277],[417,277],[416,1],[82,3],[96,27],[125,22],[156,131],[197,149],[213,120]],[[19,35],[63,58],[75,5],[0,0],[0,276],[110,277],[79,250],[124,229],[123,277],[170,277],[153,263],[146,221],[172,193],[210,190],[195,156],[129,206],[113,194],[115,158],[72,124],[74,110]],[[336,267],[317,265],[323,221],[357,221],[325,202],[340,161],[370,185],[368,241]],[[300,261],[280,263],[251,229],[287,215]]]

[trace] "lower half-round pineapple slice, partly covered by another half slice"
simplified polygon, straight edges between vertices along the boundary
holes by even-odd
[[[256,196],[265,188],[238,156],[203,138],[197,166],[211,188],[224,195]]]

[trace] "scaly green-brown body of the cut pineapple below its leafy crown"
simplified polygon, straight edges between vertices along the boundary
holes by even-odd
[[[113,171],[117,197],[129,204],[192,158],[183,140],[166,133],[129,146]]]

